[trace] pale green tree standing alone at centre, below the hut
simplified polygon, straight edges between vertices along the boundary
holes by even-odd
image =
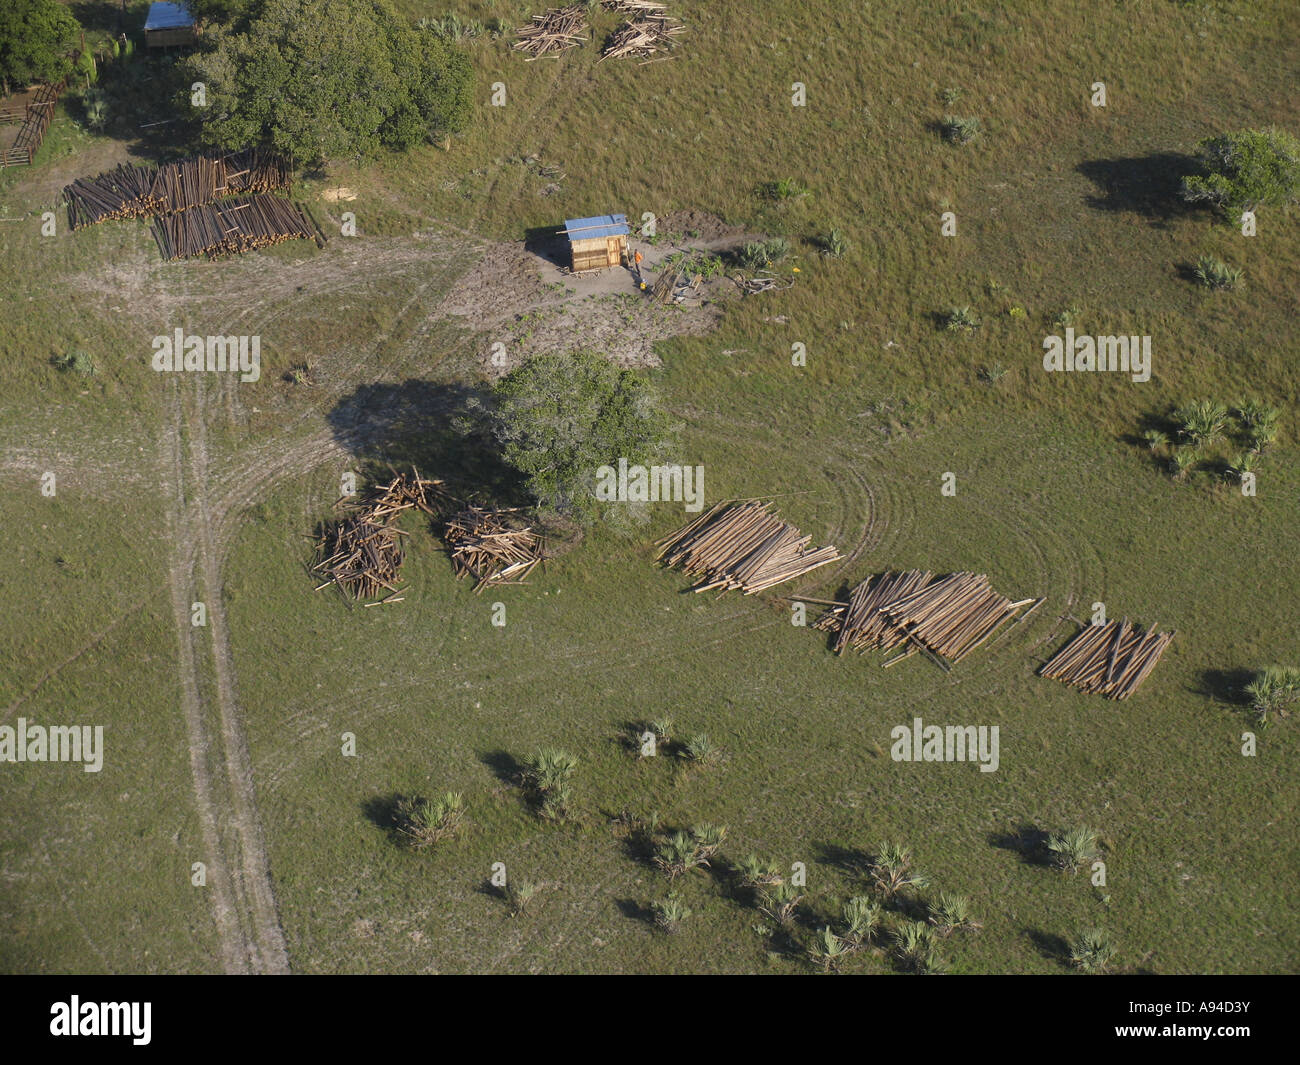
[[[597,469],[650,463],[672,427],[645,378],[592,352],[540,355],[494,390],[502,458],[546,510],[580,521],[599,515]]]

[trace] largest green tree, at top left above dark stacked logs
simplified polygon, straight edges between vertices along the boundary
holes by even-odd
[[[468,59],[385,0],[260,0],[246,29],[214,25],[203,40],[186,83],[205,86],[195,117],[211,147],[264,144],[318,164],[402,151],[469,121]]]

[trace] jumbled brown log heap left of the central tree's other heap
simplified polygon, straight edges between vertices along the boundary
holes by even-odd
[[[442,481],[428,480],[416,472],[394,476],[390,484],[377,486],[365,499],[339,499],[335,508],[347,516],[326,529],[316,545],[312,572],[328,577],[316,590],[337,585],[354,599],[402,602],[398,573],[406,533],[396,528],[395,519],[412,508],[436,515],[448,498]]]

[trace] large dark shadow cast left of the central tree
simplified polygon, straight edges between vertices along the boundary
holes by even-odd
[[[407,380],[360,385],[326,415],[341,447],[368,473],[415,467],[468,502],[523,506],[517,473],[486,428],[486,395],[460,384]]]

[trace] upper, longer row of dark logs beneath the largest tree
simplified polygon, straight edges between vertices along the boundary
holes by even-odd
[[[225,156],[194,156],[161,166],[118,166],[64,189],[73,229],[118,218],[170,215],[235,194],[287,189],[289,164],[259,148]]]

